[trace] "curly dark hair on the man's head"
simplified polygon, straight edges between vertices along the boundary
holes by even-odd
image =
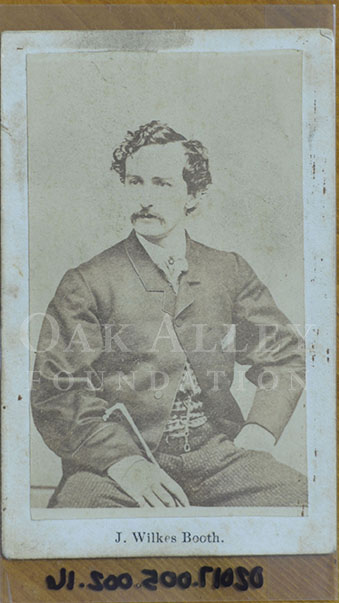
[[[143,146],[169,142],[181,142],[186,149],[186,165],[182,176],[187,185],[187,193],[194,197],[198,193],[205,193],[212,182],[206,148],[199,140],[187,140],[185,136],[160,121],[153,120],[140,126],[135,132],[128,131],[120,146],[113,151],[111,169],[119,174],[121,182],[125,182],[127,157]]]

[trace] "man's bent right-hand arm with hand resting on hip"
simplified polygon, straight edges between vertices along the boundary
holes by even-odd
[[[304,344],[252,268],[240,256],[236,259],[236,360],[250,365],[246,377],[257,390],[235,443],[272,450],[303,391]]]

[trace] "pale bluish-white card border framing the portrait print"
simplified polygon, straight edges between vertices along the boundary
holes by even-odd
[[[168,31],[165,35],[164,46],[163,31],[8,32],[2,36],[2,508],[3,553],[9,558],[315,554],[336,548],[333,32],[213,30]],[[26,56],[107,50],[285,49],[303,53],[305,313],[306,324],[314,325],[306,336],[308,515],[182,517],[165,521],[161,517],[32,519],[29,357],[19,335],[29,307]],[[123,531],[127,539],[119,547],[114,546],[117,530]],[[129,537],[133,530],[176,534],[178,541],[136,545]],[[183,546],[183,530],[193,534],[214,530],[223,534],[224,543]]]

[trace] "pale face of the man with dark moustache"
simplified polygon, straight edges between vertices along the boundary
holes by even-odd
[[[125,186],[137,233],[163,238],[185,217],[185,159],[180,142],[145,146],[127,158]]]

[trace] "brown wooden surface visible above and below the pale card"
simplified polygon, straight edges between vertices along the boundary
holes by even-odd
[[[318,0],[122,0],[118,4],[94,1],[44,2],[2,0],[0,31],[29,29],[172,29],[172,28],[259,28],[323,27],[331,28],[333,5]],[[133,6],[132,6],[133,4]],[[106,5],[106,6],[105,6]],[[110,9],[107,10],[107,5]],[[166,6],[164,6],[166,5]],[[337,93],[338,99],[338,93]],[[338,141],[338,132],[337,132]],[[337,374],[338,374],[337,365]],[[321,518],[319,518],[321,521]],[[154,568],[159,574],[188,570],[196,575],[203,565],[248,569],[261,565],[265,582],[260,590],[236,591],[234,588],[182,590],[160,587],[155,592],[131,588],[123,591],[93,592],[47,590],[45,577],[59,575],[59,569],[75,570],[76,583],[89,581],[94,569],[109,574],[130,572],[139,576],[142,568]],[[10,561],[0,559],[1,603],[73,603],[85,602],[173,602],[173,601],[334,601],[336,600],[336,559],[325,555],[273,557],[175,557],[142,559],[77,559]]]

